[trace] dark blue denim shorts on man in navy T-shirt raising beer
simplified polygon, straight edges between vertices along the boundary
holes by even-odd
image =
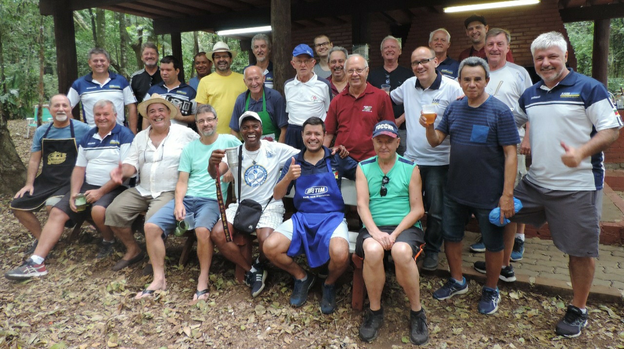
[[[460,204],[449,195],[444,195],[444,210],[442,217],[442,237],[449,242],[461,242],[464,239],[466,222],[470,214],[474,214],[479,222],[479,229],[483,236],[485,249],[489,252],[499,252],[505,248],[503,241],[503,227],[491,224],[489,220],[491,209],[478,209]]]

